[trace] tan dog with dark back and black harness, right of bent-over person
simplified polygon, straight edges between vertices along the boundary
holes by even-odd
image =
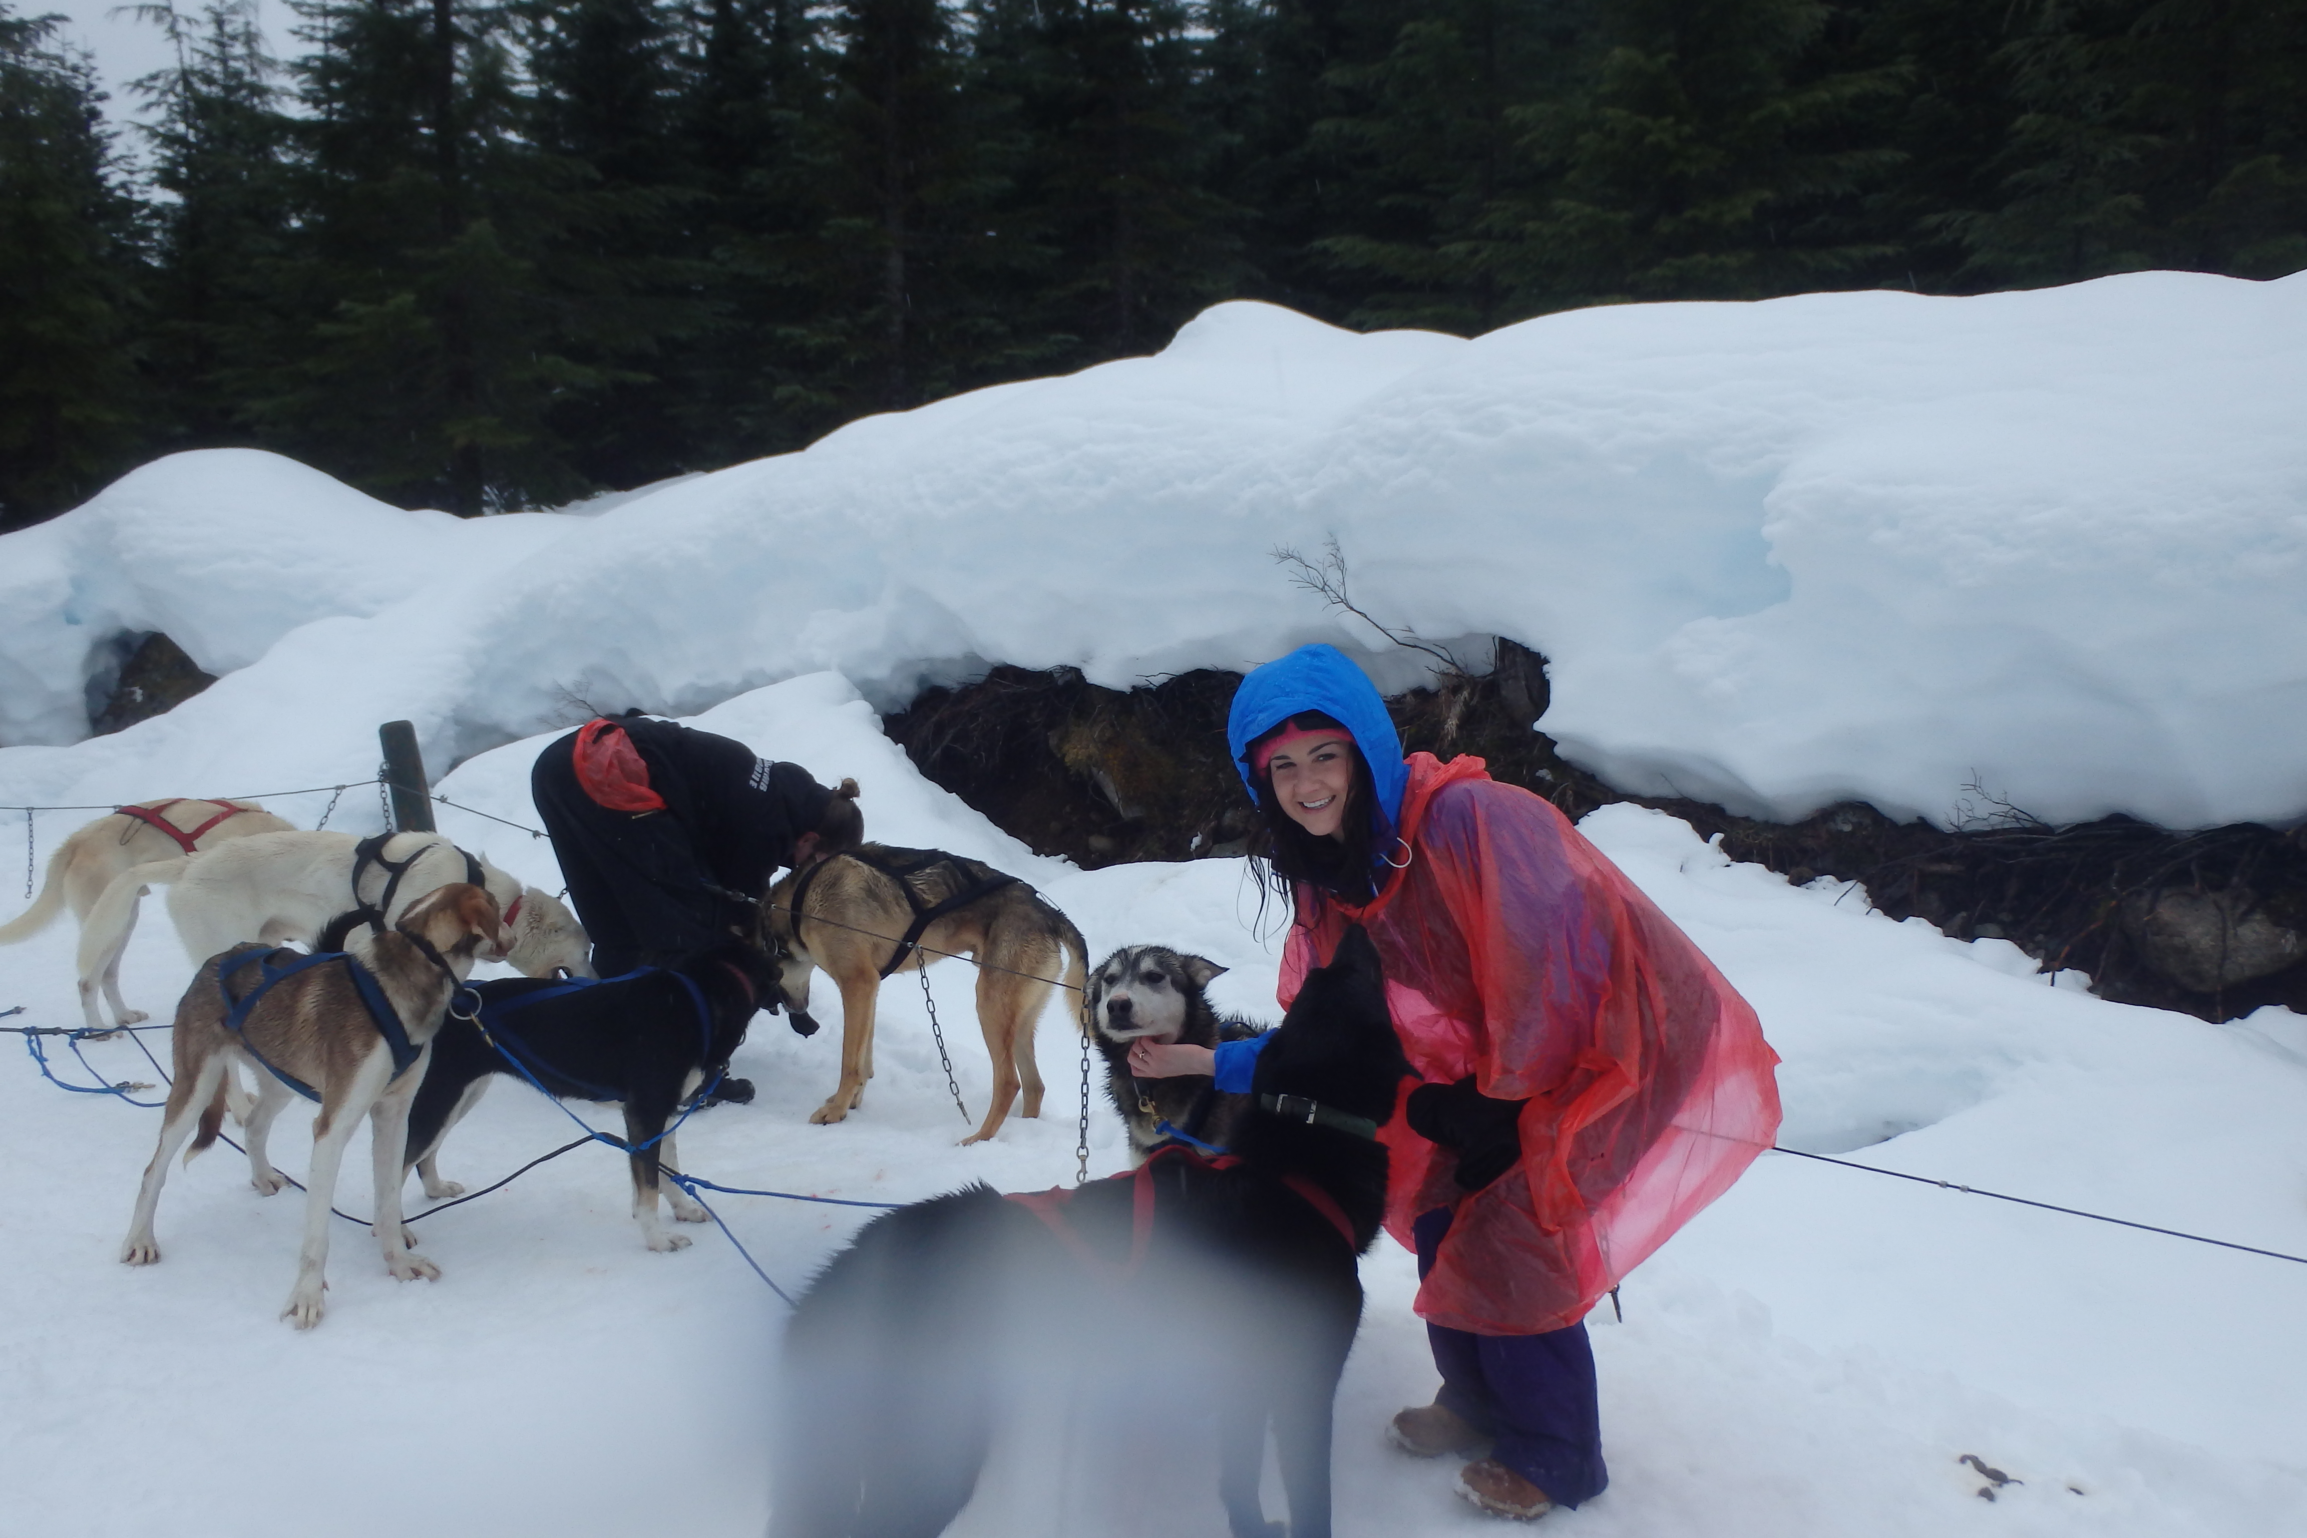
[[[937,849],[863,844],[787,874],[761,904],[764,934],[780,957],[777,987],[794,1028],[810,1035],[810,973],[842,989],[842,1081],[810,1121],[840,1121],[872,1077],[872,1024],[881,978],[920,971],[946,955],[978,962],[978,1028],[994,1061],[994,1098],[962,1144],[992,1137],[1024,1086],[1020,1116],[1040,1116],[1034,1026],[1064,964],[1064,987],[1082,996],[1089,952],[1073,922],[1040,892],[978,860]]]

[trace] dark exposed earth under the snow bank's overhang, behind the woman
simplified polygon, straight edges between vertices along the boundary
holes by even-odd
[[[1237,673],[1197,671],[1100,689],[1073,669],[1001,666],[930,689],[884,719],[923,775],[1038,853],[1082,867],[1241,853],[1248,798],[1225,752]],[[1696,800],[1624,796],[1555,754],[1546,662],[1513,641],[1497,666],[1387,701],[1403,747],[1476,754],[1490,775],[1571,819],[1608,802],[1656,807],[1721,835],[1735,860],[1790,881],[1866,885],[1892,918],[1956,938],[2000,936],[2046,968],[2081,968],[2104,998],[2233,1019],[2265,1003],[2307,1012],[2307,830],[2256,823],[2171,832],[2122,816],[2051,828],[1989,805],[1970,825],[1894,823],[1846,802],[1802,823]],[[2254,975],[2256,971],[2256,975]]]

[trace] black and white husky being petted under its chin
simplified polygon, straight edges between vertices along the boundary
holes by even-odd
[[[1130,1162],[1144,1160],[1172,1139],[1167,1123],[1190,1139],[1227,1146],[1248,1095],[1220,1095],[1207,1075],[1137,1079],[1130,1075],[1130,1042],[1183,1042],[1216,1047],[1257,1035],[1262,1026],[1237,1015],[1218,1015],[1204,992],[1225,968],[1167,945],[1124,945],[1089,973],[1089,1026],[1105,1056],[1105,1093],[1130,1128]]]

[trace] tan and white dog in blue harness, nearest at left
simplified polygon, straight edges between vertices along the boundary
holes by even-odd
[[[328,1287],[323,1275],[328,1268],[328,1208],[337,1197],[337,1167],[344,1162],[344,1146],[353,1139],[362,1116],[374,1123],[369,1132],[376,1167],[374,1231],[385,1252],[385,1271],[404,1282],[438,1277],[441,1268],[408,1247],[408,1229],[401,1227],[401,1146],[408,1137],[408,1100],[424,1077],[427,1049],[450,996],[471,975],[475,957],[501,957],[510,941],[496,902],[478,885],[461,881],[415,904],[399,925],[383,934],[358,929],[346,936],[346,955],[369,968],[399,1031],[415,1047],[413,1061],[404,1063],[399,1072],[394,1072],[392,1045],[385,1038],[388,1026],[369,1012],[344,962],[323,962],[281,978],[256,1001],[235,1033],[226,1026],[228,1005],[217,973],[245,952],[258,952],[233,968],[233,996],[247,998],[249,989],[256,987],[258,971],[275,957],[265,957],[261,945],[240,945],[221,957],[210,957],[191,987],[185,989],[182,1003],[175,1005],[175,1084],[168,1088],[159,1148],[145,1164],[143,1188],[136,1192],[136,1215],[129,1220],[120,1259],[129,1266],[150,1266],[159,1259],[159,1241],[152,1238],[152,1208],[159,1206],[159,1188],[168,1178],[168,1160],[196,1125],[198,1137],[194,1137],[187,1160],[217,1141],[217,1130],[224,1125],[226,1068],[249,1058],[249,1068],[256,1070],[263,1086],[256,1114],[247,1123],[249,1183],[258,1192],[270,1197],[286,1185],[281,1171],[265,1160],[265,1132],[291,1093],[279,1075],[300,1079],[321,1102],[321,1114],[311,1123],[311,1171],[305,1178],[305,1247],[281,1319],[293,1321],[300,1330],[321,1324],[321,1294]],[[293,952],[277,952],[277,957],[300,959]]]

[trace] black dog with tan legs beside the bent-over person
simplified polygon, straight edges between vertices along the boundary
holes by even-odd
[[[489,1028],[538,1084],[563,1100],[623,1100],[625,1141],[639,1146],[664,1132],[681,1102],[704,1079],[729,1065],[745,1026],[764,998],[775,998],[777,968],[757,945],[727,941],[676,966],[653,966],[602,982],[496,978],[475,982],[480,1024],[454,1012],[431,1040],[431,1063],[408,1107],[408,1153],[427,1197],[464,1188],[436,1167],[441,1139],[480,1102],[491,1075],[521,1077],[489,1045]],[[531,1003],[521,998],[535,996]],[[699,1012],[701,1005],[701,1012]],[[660,1164],[681,1169],[674,1139],[632,1155],[632,1217],[651,1250],[685,1250],[687,1236],[657,1222]],[[681,1222],[704,1222],[706,1208],[678,1185],[664,1197]]]

